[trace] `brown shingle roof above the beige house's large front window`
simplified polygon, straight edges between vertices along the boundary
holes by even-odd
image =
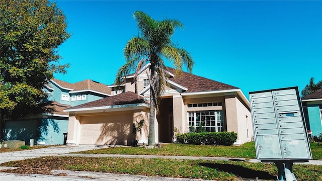
[[[175,74],[175,69],[170,67],[167,67],[167,68],[169,72]],[[188,91],[186,91],[185,93],[238,89],[238,87],[228,85],[222,82],[218,82],[215,80],[211,80],[205,77],[197,76],[187,72],[182,72],[181,75],[176,75],[175,77],[171,77],[169,78],[169,80],[174,81],[188,88]]]

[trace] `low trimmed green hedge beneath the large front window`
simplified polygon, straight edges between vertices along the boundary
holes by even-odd
[[[202,132],[177,134],[177,141],[184,144],[232,145],[237,140],[234,132]]]

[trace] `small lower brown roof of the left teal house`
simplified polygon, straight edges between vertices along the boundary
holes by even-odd
[[[60,115],[68,115],[68,113],[65,113],[63,110],[71,107],[69,105],[60,104],[56,101],[48,101],[40,104],[39,106],[43,113],[60,114]]]

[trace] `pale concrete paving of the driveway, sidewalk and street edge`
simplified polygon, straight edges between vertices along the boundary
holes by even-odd
[[[203,160],[229,160],[229,161],[248,161],[248,162],[260,162],[257,159],[246,160],[245,158],[225,158],[225,157],[195,157],[195,156],[161,156],[161,155],[122,155],[122,154],[75,154],[70,152],[86,151],[100,148],[111,147],[111,145],[76,145],[76,146],[57,146],[48,147],[42,149],[23,150],[15,152],[0,153],[0,163],[14,160],[22,160],[28,158],[36,158],[40,156],[79,156],[79,157],[126,157],[126,158],[172,158],[172,159],[203,159]],[[316,164],[322,165],[321,160],[309,160],[304,163],[294,164]],[[0,167],[1,169],[8,169],[8,167]],[[41,174],[28,174],[20,175],[14,173],[0,172],[0,178],[2,181],[12,180],[202,180],[202,179],[190,179],[190,178],[169,178],[169,177],[147,177],[140,175],[128,175],[128,174],[113,174],[113,173],[101,173],[101,172],[85,172],[85,171],[69,171],[69,170],[52,170],[53,174],[66,173],[66,176],[55,175],[41,175]],[[254,179],[241,179],[241,180],[254,180]]]

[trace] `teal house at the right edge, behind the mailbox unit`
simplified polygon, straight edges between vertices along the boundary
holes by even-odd
[[[312,136],[322,133],[322,88],[302,98],[306,127]]]

